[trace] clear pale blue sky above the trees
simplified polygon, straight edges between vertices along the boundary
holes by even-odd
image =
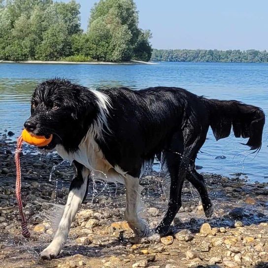
[[[85,30],[98,0],[76,1]],[[268,0],[134,1],[154,48],[268,50]]]

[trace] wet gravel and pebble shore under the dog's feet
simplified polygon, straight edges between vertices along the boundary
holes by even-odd
[[[153,229],[166,210],[167,186],[154,171],[141,180],[142,214],[152,230],[148,237],[135,237],[124,221],[124,187],[93,181],[60,256],[41,260],[38,254],[53,237],[73,167],[63,163],[50,180],[60,157],[55,153],[40,156],[31,146],[24,149],[22,200],[30,239],[21,235],[15,201],[15,143],[0,135],[1,268],[268,267],[268,183],[248,182],[241,174],[231,178],[205,174],[215,205],[212,218],[206,219],[196,190],[185,182],[183,207],[170,234],[159,237]]]

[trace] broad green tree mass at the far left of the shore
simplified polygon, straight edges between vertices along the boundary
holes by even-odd
[[[74,0],[0,3],[0,59],[58,60],[71,53],[71,36],[82,33],[80,5]]]

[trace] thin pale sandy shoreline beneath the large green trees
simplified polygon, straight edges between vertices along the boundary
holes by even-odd
[[[99,65],[135,65],[135,64],[145,64],[145,65],[158,65],[159,63],[143,62],[143,61],[129,61],[129,62],[66,62],[66,61],[0,61],[0,63],[21,63],[21,64],[99,64]]]

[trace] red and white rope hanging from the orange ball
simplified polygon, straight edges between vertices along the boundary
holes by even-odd
[[[25,215],[23,214],[23,206],[21,201],[21,165],[20,165],[20,152],[22,152],[22,136],[18,138],[17,148],[15,150],[15,163],[16,163],[16,171],[17,171],[17,179],[16,179],[16,199],[18,202],[19,212],[21,215],[21,227],[22,227],[22,235],[24,237],[30,237],[31,234],[27,228],[27,221]]]

